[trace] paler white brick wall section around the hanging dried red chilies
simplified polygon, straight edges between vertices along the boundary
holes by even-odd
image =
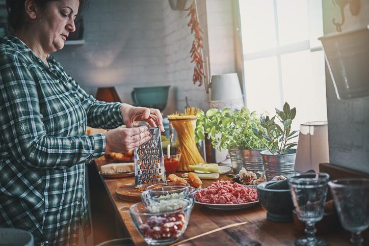
[[[187,6],[192,1],[188,1]],[[198,0],[198,13],[203,37],[206,38],[206,21],[205,1]],[[176,100],[170,98],[170,109],[173,111],[183,112],[186,106],[185,97],[189,99],[192,106],[197,106],[207,110],[208,102],[204,86],[198,87],[192,83],[192,75],[194,64],[191,63],[190,50],[192,41],[194,40],[191,29],[187,26],[190,18],[186,17],[187,11],[173,11],[167,1],[163,1],[164,9],[164,43],[165,57],[167,64],[168,79],[173,88],[176,90]],[[206,23],[206,22],[205,22]],[[204,40],[206,47],[206,39]]]

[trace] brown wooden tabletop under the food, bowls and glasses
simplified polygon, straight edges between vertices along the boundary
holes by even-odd
[[[97,167],[106,163],[104,158],[95,160]],[[178,174],[180,175],[180,174]],[[101,177],[102,178],[102,177]],[[225,175],[221,179],[228,180]],[[128,208],[133,202],[121,201],[115,195],[115,190],[127,183],[133,183],[134,177],[120,179],[104,179],[111,202],[120,215],[129,236],[135,245],[145,245],[145,241],[136,230],[131,220]],[[211,184],[213,180],[203,180],[203,187]],[[181,245],[294,245],[296,238],[304,236],[294,229],[294,223],[275,223],[268,221],[266,211],[260,205],[239,210],[214,210],[195,204],[191,214],[190,222],[186,232],[179,238],[179,241],[190,238],[201,233],[208,232],[229,224],[247,222],[244,225],[232,227],[222,231],[187,241]],[[330,245],[351,245],[350,235],[344,230],[337,233],[322,236]],[[364,238],[369,242],[369,238]]]

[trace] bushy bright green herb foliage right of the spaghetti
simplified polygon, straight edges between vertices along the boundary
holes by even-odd
[[[197,114],[195,141],[204,140],[207,133],[212,145],[219,150],[228,150],[230,147],[263,148],[252,128],[262,130],[261,122],[256,113],[250,113],[246,107],[234,112],[231,108],[210,108],[206,114],[203,111]]]

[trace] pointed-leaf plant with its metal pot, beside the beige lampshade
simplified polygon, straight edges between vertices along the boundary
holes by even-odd
[[[292,142],[298,136],[298,131],[291,130],[291,124],[296,117],[296,107],[290,108],[288,103],[283,105],[283,111],[276,108],[276,115],[272,118],[261,116],[261,127],[264,130],[253,128],[254,134],[262,140],[267,150],[261,151],[267,180],[275,176],[287,176],[295,173],[295,159],[297,146]],[[278,120],[279,123],[275,121]]]

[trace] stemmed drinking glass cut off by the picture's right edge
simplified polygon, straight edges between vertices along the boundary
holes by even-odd
[[[360,233],[369,226],[369,179],[336,179],[328,182],[342,227],[350,242],[361,245]]]

